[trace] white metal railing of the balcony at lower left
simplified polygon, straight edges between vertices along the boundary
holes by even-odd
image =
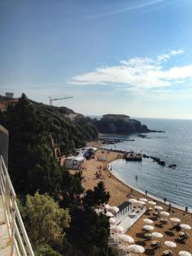
[[[9,230],[11,256],[34,256],[16,203],[15,189],[2,156],[0,156],[0,194],[2,195],[4,215]]]

